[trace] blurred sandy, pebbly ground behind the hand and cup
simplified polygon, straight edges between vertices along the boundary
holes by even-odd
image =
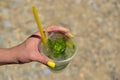
[[[60,24],[76,37],[71,64],[53,73],[41,63],[0,66],[0,80],[120,80],[120,0],[0,0],[0,47],[23,42],[43,26]]]

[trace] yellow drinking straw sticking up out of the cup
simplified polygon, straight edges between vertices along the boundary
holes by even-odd
[[[40,19],[39,19],[39,17],[38,17],[37,10],[36,10],[35,6],[32,7],[32,12],[33,12],[33,14],[34,14],[36,23],[37,23],[37,25],[38,25],[38,29],[39,29],[39,32],[40,32],[40,34],[41,34],[42,42],[43,42],[43,44],[44,44],[44,46],[45,46],[46,43],[47,43],[47,40],[46,40],[45,35],[44,35],[44,33],[43,33],[42,25],[41,25],[41,23],[40,23]]]

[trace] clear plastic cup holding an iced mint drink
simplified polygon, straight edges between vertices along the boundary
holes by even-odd
[[[49,67],[52,71],[65,69],[75,56],[77,50],[74,39],[70,39],[64,34],[57,32],[53,32],[48,36],[46,46],[40,43],[38,47],[45,56],[52,59],[55,63],[55,68]]]

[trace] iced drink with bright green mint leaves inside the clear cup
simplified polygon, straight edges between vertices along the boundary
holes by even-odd
[[[54,60],[64,60],[75,51],[75,46],[70,39],[62,34],[57,34],[48,39],[49,58]],[[71,52],[72,51],[72,52]]]

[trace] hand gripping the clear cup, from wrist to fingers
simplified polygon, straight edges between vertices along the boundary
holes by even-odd
[[[44,29],[44,31],[46,31]],[[68,33],[66,28],[60,26],[51,26],[47,29],[48,33],[51,32],[60,32],[66,35],[67,37],[72,37]],[[31,61],[38,61],[43,64],[47,64],[48,61],[52,61],[48,57],[44,56],[41,51],[38,50],[38,45],[41,43],[41,36],[39,32],[31,35],[25,42],[17,46],[18,49],[18,62],[19,63],[28,63]]]

